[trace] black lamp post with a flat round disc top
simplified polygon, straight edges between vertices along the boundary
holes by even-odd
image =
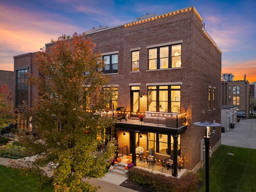
[[[209,192],[209,144],[210,144],[209,129],[210,129],[210,127],[221,126],[221,124],[214,123],[214,122],[208,122],[208,121],[201,121],[201,122],[195,122],[194,125],[205,127],[205,136],[204,136],[204,144],[205,144],[205,191]]]

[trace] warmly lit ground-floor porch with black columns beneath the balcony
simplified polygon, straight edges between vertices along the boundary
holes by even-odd
[[[184,119],[182,119],[183,115]],[[187,125],[185,114],[175,116],[174,120],[176,121],[173,123],[173,127],[164,124],[145,123],[138,118],[118,122],[114,128],[114,137],[118,141],[117,157],[120,156],[124,159],[130,156],[129,158],[137,167],[177,177],[178,172],[181,172],[183,169],[184,162],[182,154],[180,154],[180,146],[178,147],[178,137],[185,132]],[[166,135],[168,137],[168,146],[165,152],[156,152],[152,162],[148,161],[148,158],[150,158],[148,133],[157,134],[158,136]],[[143,134],[146,140],[143,141],[143,144],[138,145],[139,134],[139,137],[142,137]],[[171,139],[172,144],[170,144]],[[137,146],[143,146],[145,152],[142,155],[136,154]],[[169,160],[171,155],[172,160]],[[127,162],[127,160],[124,161]]]

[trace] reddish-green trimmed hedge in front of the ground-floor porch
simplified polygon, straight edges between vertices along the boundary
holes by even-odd
[[[128,176],[133,182],[168,192],[193,192],[200,182],[198,174],[190,172],[181,178],[175,178],[136,167],[129,169]]]

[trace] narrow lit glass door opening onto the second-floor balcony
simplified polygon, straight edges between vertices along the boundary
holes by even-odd
[[[140,86],[131,86],[131,117],[138,117],[140,112]]]

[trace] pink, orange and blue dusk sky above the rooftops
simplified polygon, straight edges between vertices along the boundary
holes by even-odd
[[[256,0],[1,0],[0,70],[13,71],[13,56],[39,51],[63,34],[188,6],[196,8],[222,51],[222,73],[232,73],[234,80],[246,74],[256,82]]]

